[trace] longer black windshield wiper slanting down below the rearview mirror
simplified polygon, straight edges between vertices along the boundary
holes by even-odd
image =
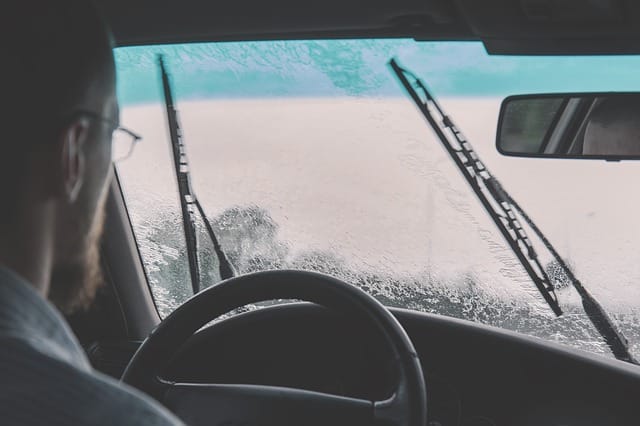
[[[418,109],[427,119],[436,136],[440,139],[440,142],[460,172],[462,172],[467,183],[471,186],[473,192],[489,213],[489,216],[493,219],[493,222],[506,239],[509,247],[553,312],[557,316],[562,315],[562,309],[558,303],[555,288],[546,270],[540,264],[538,255],[515,212],[527,222],[547,250],[549,250],[552,257],[558,262],[558,265],[564,270],[566,276],[582,299],[582,306],[587,317],[603,337],[614,356],[619,360],[638,364],[629,351],[627,339],[622,332],[618,330],[602,305],[598,303],[576,278],[533,220],[531,220],[520,205],[507,193],[489,170],[487,170],[469,141],[464,138],[453,121],[445,114],[429,90],[427,90],[426,85],[413,73],[400,67],[395,59],[392,59],[389,65]]]

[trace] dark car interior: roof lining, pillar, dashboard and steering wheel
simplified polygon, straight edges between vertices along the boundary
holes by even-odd
[[[640,3],[632,0],[97,3],[118,46],[401,37],[481,41],[495,55],[640,54]],[[107,285],[87,312],[68,318],[74,332],[98,371],[124,374],[187,424],[418,425],[424,416],[432,426],[640,422],[637,365],[437,314],[380,311],[349,283],[311,273],[234,278],[232,287],[190,299],[165,324],[117,176],[102,255]],[[205,327],[267,299],[300,302]],[[193,391],[198,385],[203,392]]]

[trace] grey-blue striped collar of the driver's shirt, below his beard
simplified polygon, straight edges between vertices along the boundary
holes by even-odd
[[[20,339],[46,355],[89,369],[62,315],[24,278],[0,266],[0,339]]]

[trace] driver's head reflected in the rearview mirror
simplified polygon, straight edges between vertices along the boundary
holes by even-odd
[[[586,155],[640,155],[640,96],[604,99],[585,130]]]

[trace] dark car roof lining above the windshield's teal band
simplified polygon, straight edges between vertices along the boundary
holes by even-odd
[[[635,0],[97,0],[118,45],[410,37],[496,54],[640,53]]]

